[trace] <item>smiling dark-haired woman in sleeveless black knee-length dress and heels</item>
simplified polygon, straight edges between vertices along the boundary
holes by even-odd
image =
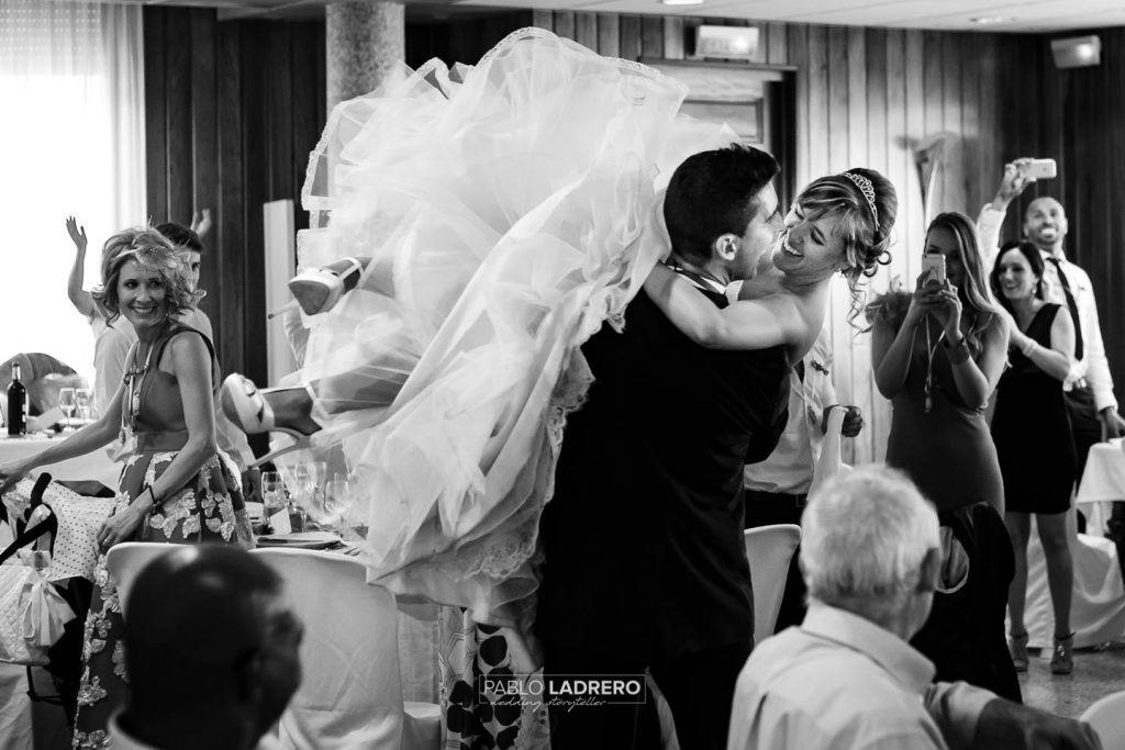
[[[1065,307],[1043,301],[1043,257],[1030,243],[1002,250],[991,279],[997,299],[1009,313],[1010,331],[1011,367],[997,389],[992,439],[1004,477],[1004,519],[1016,551],[1016,577],[1008,593],[1011,660],[1017,670],[1027,669],[1024,600],[1034,513],[1054,608],[1051,671],[1069,675],[1074,668],[1070,630],[1074,571],[1066,512],[1078,464],[1062,383],[1074,353],[1074,323]]]

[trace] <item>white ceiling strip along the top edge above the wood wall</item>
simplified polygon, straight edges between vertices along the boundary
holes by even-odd
[[[224,18],[310,17],[327,0],[124,0],[151,4],[224,8]],[[494,9],[575,10],[668,16],[746,18],[844,26],[1058,31],[1125,26],[1125,0],[704,0],[666,6],[659,0],[402,0],[411,18],[453,18]],[[974,22],[974,18],[997,22]]]

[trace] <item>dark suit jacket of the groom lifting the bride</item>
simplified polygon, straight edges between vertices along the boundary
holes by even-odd
[[[784,347],[698,346],[642,290],[623,333],[605,325],[582,351],[595,381],[540,525],[536,632],[645,663],[749,641],[742,467],[785,426]]]

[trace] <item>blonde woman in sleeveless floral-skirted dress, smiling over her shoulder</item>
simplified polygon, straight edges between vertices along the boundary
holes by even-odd
[[[82,455],[120,437],[124,466],[115,508],[98,531],[100,552],[126,541],[249,544],[250,524],[236,475],[215,444],[218,364],[212,342],[177,316],[196,304],[188,270],[151,229],[128,229],[109,243],[104,286],[94,292],[112,319],[137,332],[126,372],[105,415],[25,461],[0,467],[7,490],[36,467]],[[75,748],[110,747],[106,728],[124,702],[123,623],[102,554],[86,624]]]

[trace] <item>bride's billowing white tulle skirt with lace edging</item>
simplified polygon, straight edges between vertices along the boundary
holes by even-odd
[[[474,67],[404,66],[333,110],[300,263],[374,260],[306,319],[297,380],[315,442],[343,449],[361,490],[371,580],[521,624],[565,417],[588,386],[577,346],[667,252],[676,165],[737,139],[678,115],[684,94],[523,29]]]

